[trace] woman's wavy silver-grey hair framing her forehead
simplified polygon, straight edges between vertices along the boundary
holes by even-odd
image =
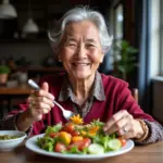
[[[68,23],[82,22],[85,20],[91,21],[98,27],[102,50],[104,53],[106,53],[112,43],[112,37],[109,36],[104,17],[101,13],[92,11],[87,7],[78,7],[67,11],[63,15],[63,17],[59,22],[57,22],[53,29],[48,33],[53,49],[57,50],[57,48],[59,47],[64,34],[65,26]]]

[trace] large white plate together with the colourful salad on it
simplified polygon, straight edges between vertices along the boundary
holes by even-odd
[[[26,141],[26,147],[39,154],[68,160],[99,160],[128,152],[134,141],[105,135],[104,123],[93,120],[84,124],[79,115],[73,115],[65,124],[48,126],[46,133]]]

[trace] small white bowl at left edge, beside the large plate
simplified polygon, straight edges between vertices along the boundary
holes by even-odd
[[[18,138],[0,140],[0,151],[11,151],[17,146],[20,146],[26,138],[26,134],[24,131],[18,130],[0,130],[0,136],[2,135],[18,136]]]

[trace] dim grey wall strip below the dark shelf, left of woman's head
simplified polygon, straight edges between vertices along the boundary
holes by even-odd
[[[48,43],[2,43],[0,45],[0,59],[13,57],[18,60],[26,57],[27,61],[32,61],[33,65],[40,65],[42,60],[52,54],[50,45]]]

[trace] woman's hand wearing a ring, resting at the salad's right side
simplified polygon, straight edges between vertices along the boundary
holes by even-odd
[[[118,136],[123,136],[125,139],[139,139],[145,134],[139,121],[134,120],[126,110],[122,110],[114,114],[105,123],[103,130],[106,134],[117,133]]]

